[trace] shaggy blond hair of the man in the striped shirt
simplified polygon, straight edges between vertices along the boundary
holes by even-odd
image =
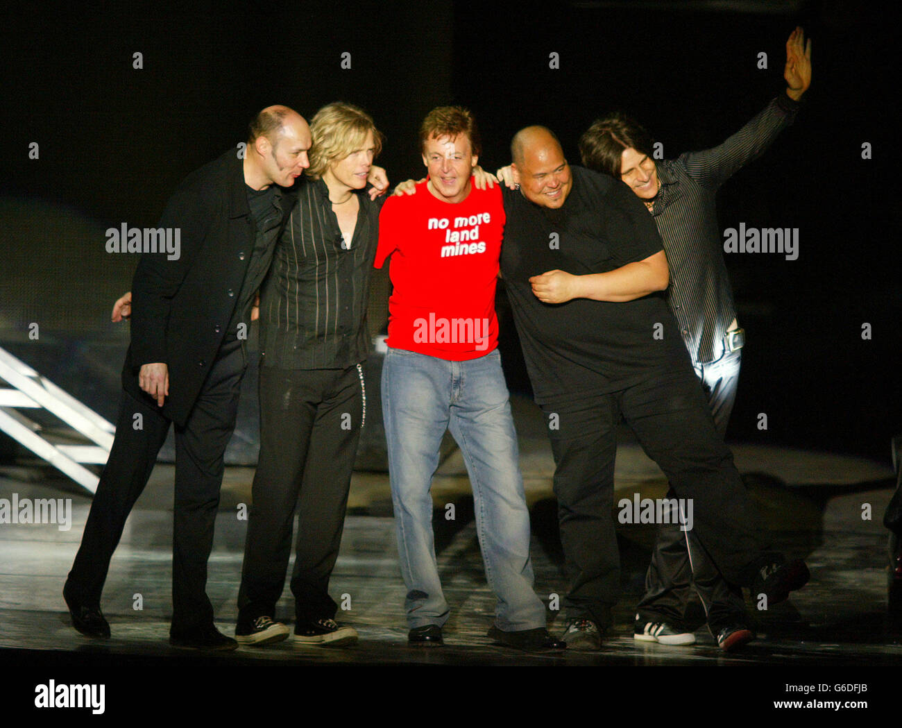
[[[310,166],[306,172],[311,180],[318,180],[333,161],[360,149],[367,132],[373,132],[375,154],[382,152],[382,132],[376,128],[373,117],[353,104],[336,101],[323,106],[310,120]]]

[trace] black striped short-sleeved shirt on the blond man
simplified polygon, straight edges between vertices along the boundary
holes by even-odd
[[[366,358],[366,303],[379,240],[379,209],[360,190],[350,247],[323,180],[299,177],[298,202],[260,294],[261,364],[344,369]]]

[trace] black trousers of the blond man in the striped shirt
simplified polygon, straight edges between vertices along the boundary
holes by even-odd
[[[331,619],[328,594],[360,439],[362,371],[260,370],[260,460],[244,545],[238,622],[273,616],[285,585],[295,508],[291,593],[298,622]]]

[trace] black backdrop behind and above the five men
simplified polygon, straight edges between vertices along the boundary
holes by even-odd
[[[422,176],[416,130],[448,103],[473,109],[488,170],[509,161],[526,124],[553,128],[578,162],[579,134],[613,109],[674,157],[720,143],[782,92],[784,43],[803,25],[814,41],[805,107],[719,198],[722,229],[800,231],[795,261],[727,256],[749,342],[730,437],[888,460],[902,429],[902,306],[899,41],[883,5],[20,3],[3,13],[5,337],[33,321],[60,335],[108,330],[135,261],[107,254],[103,231],[154,225],[179,180],[243,141],[262,106],[308,118],[334,100],[364,106],[386,134],[378,163],[393,182]],[[762,51],[768,69],[757,67]],[[32,142],[39,160],[28,159]],[[522,373],[509,375],[520,389]]]

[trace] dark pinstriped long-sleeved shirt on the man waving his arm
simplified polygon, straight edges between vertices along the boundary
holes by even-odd
[[[717,189],[792,124],[799,106],[782,93],[723,144],[658,161],[661,189],[652,215],[670,268],[667,305],[694,363],[721,358],[723,336],[736,318],[714,207]]]

